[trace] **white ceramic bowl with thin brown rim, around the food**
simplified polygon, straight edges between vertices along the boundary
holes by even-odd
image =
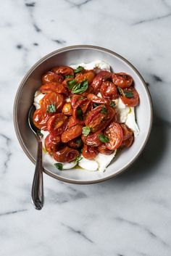
[[[127,59],[114,51],[99,46],[69,46],[53,51],[36,62],[22,79],[17,90],[14,100],[14,128],[25,154],[33,163],[36,163],[37,142],[28,126],[28,110],[30,105],[33,104],[36,89],[41,85],[41,75],[57,65],[79,64],[81,62],[92,62],[96,59],[108,62],[114,72],[125,72],[132,75],[135,88],[140,96],[140,104],[136,107],[135,113],[140,134],[135,138],[129,149],[122,150],[117,157],[114,157],[104,173],[78,170],[77,168],[61,171],[50,165],[44,166],[44,173],[61,181],[88,184],[116,177],[133,164],[149,139],[152,123],[151,96],[138,70]]]

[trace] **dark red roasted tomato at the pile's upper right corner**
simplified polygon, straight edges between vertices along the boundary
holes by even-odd
[[[120,88],[128,88],[132,85],[133,78],[127,73],[113,73],[112,82],[115,84],[115,86],[119,86]]]

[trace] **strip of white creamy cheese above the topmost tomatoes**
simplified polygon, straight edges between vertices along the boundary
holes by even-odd
[[[101,70],[110,71],[110,65],[107,62],[104,62],[103,60],[99,59],[89,63],[70,65],[70,67],[72,67],[73,69],[76,69],[78,66],[84,67],[86,70],[93,70],[94,68],[97,68]]]

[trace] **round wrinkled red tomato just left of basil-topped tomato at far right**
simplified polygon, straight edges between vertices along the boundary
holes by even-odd
[[[117,87],[114,86],[114,83],[109,81],[102,83],[100,92],[101,95],[107,99],[117,99],[118,97]]]

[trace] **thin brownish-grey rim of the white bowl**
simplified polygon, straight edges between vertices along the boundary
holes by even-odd
[[[44,62],[46,59],[49,59],[50,57],[53,57],[56,54],[61,53],[62,51],[67,51],[67,50],[73,50],[73,49],[96,49],[96,50],[100,50],[100,51],[105,51],[109,54],[112,54],[120,59],[122,59],[124,62],[126,62],[126,64],[128,64],[134,71],[135,73],[138,75],[138,77],[140,78],[141,82],[143,83],[143,86],[146,90],[146,94],[148,96],[149,99],[149,104],[150,104],[150,125],[149,125],[149,131],[147,133],[146,136],[146,140],[144,141],[143,145],[141,146],[141,150],[138,152],[138,154],[135,155],[135,157],[133,157],[133,159],[128,162],[127,165],[125,165],[125,167],[121,168],[117,173],[114,173],[110,176],[104,177],[104,178],[98,178],[96,180],[93,181],[76,181],[76,180],[72,180],[70,178],[63,178],[61,176],[59,176],[58,174],[54,174],[51,173],[51,171],[46,170],[45,168],[43,168],[43,172],[46,173],[47,175],[51,176],[52,178],[56,178],[59,181],[64,181],[67,183],[74,183],[74,184],[93,184],[93,183],[100,183],[102,181],[107,181],[110,178],[114,178],[119,176],[121,173],[123,173],[126,169],[128,169],[130,167],[130,165],[133,164],[133,162],[135,162],[135,160],[138,159],[138,157],[140,156],[140,154],[143,152],[144,147],[146,146],[146,143],[149,139],[149,135],[151,133],[151,127],[152,127],[152,123],[153,123],[153,106],[152,106],[152,100],[151,100],[151,95],[149,92],[149,88],[146,85],[145,80],[143,80],[143,77],[141,76],[141,74],[138,72],[138,70],[128,61],[128,59],[125,59],[125,57],[122,57],[120,54],[117,54],[116,52],[106,49],[104,47],[101,46],[93,46],[93,45],[86,45],[86,44],[81,44],[81,45],[73,45],[73,46],[67,46],[67,47],[62,47],[60,49],[57,49],[55,51],[51,51],[51,53],[46,54],[44,57],[42,57],[41,59],[39,59],[35,65],[33,65],[32,67],[30,67],[30,69],[28,70],[28,72],[25,74],[25,76],[22,78],[21,82],[20,82],[20,86],[17,88],[17,93],[15,94],[14,97],[14,105],[13,105],[13,122],[14,122],[14,130],[15,133],[17,135],[17,139],[20,143],[20,146],[22,147],[23,151],[25,152],[25,154],[28,156],[28,158],[30,159],[31,162],[33,162],[34,164],[36,164],[36,161],[33,159],[33,157],[31,156],[29,150],[27,149],[27,147],[25,146],[24,141],[22,140],[22,136],[20,134],[20,130],[18,127],[18,122],[17,122],[17,105],[18,105],[18,101],[20,98],[20,94],[22,92],[22,88],[25,85],[25,81],[28,79],[29,75],[33,72],[33,70],[36,69],[36,67],[38,67],[38,65],[40,65],[42,62]]]

